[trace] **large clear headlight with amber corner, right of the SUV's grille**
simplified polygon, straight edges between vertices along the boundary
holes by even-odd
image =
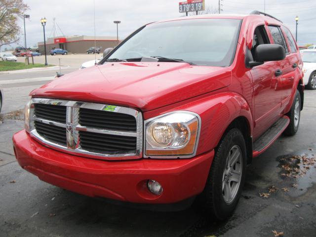
[[[193,157],[199,130],[199,116],[188,111],[148,119],[145,121],[145,157]]]

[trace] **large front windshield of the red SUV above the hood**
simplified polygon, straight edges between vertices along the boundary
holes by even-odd
[[[189,19],[150,24],[119,45],[107,59],[161,57],[159,61],[178,59],[226,67],[234,60],[240,23],[239,19]]]

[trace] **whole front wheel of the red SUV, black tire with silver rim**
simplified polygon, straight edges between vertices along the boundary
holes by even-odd
[[[234,157],[237,157],[235,162],[229,165]],[[240,130],[233,128],[215,149],[205,188],[197,197],[199,209],[215,220],[225,220],[232,215],[241,195],[245,171],[246,144]]]

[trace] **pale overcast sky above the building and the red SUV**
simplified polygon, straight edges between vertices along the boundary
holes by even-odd
[[[178,12],[182,0],[95,0],[96,35],[116,36],[114,20],[120,20],[119,38],[123,39],[140,26],[183,14]],[[184,0],[183,0],[184,1]],[[26,19],[27,45],[43,41],[40,18],[46,17],[46,36],[52,35],[53,17],[67,35],[93,36],[93,0],[24,0],[30,7]],[[222,13],[247,14],[264,11],[264,0],[221,0]],[[298,43],[316,43],[316,0],[265,0],[266,12],[286,24],[295,37],[295,16],[299,16]],[[206,6],[218,9],[218,0],[205,0]],[[23,29],[23,21],[20,21]],[[21,36],[19,45],[24,45]],[[12,45],[16,46],[16,45]]]

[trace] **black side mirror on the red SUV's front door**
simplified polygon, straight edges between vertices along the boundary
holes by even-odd
[[[285,49],[279,44],[260,44],[255,50],[255,60],[249,66],[255,67],[268,61],[279,61],[285,58]]]

